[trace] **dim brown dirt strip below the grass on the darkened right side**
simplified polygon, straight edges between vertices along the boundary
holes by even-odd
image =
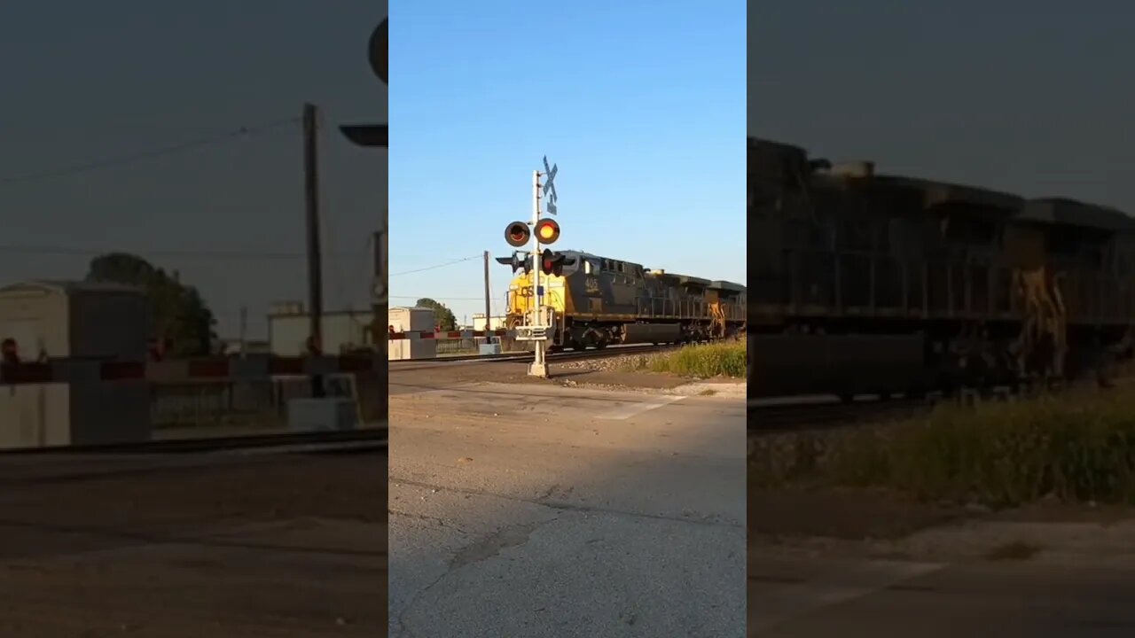
[[[1045,560],[1135,565],[1135,507],[1045,500],[991,511],[877,489],[749,489],[754,556]]]

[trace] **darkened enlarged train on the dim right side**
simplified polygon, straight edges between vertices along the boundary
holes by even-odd
[[[748,141],[750,395],[1105,379],[1130,358],[1135,219]]]

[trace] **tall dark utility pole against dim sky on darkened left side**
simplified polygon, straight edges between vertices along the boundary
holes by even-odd
[[[322,354],[323,271],[319,241],[319,107],[303,106],[303,177],[308,226],[308,312],[311,319],[309,350]],[[323,377],[311,377],[311,395],[322,397]]]

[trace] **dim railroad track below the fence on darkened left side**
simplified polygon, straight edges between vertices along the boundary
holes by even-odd
[[[50,447],[25,447],[2,450],[0,456],[45,455],[45,454],[192,454],[254,450],[269,447],[299,447],[321,445],[365,445],[375,450],[386,450],[387,428],[363,428],[317,433],[283,433],[267,435],[242,435],[210,438],[179,438],[167,440],[144,440],[108,445],[60,445]]]

